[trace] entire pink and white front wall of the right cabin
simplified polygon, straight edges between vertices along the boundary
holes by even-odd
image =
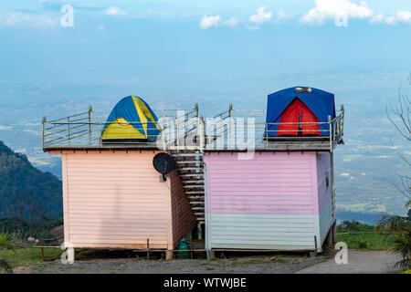
[[[206,247],[314,249],[316,153],[262,151],[250,160],[237,154],[205,153]]]

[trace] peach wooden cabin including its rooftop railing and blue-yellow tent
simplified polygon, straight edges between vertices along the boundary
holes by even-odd
[[[156,141],[160,127],[156,120],[144,121],[153,118],[152,111],[148,112],[151,109],[135,97],[121,99],[119,104],[120,110],[116,106],[109,118],[91,107],[58,120],[43,118],[43,150],[62,159],[65,243],[79,248],[173,250],[196,222],[204,222],[204,217],[196,216],[196,204],[189,201],[184,189],[184,180],[197,176],[191,173],[196,173],[196,168],[184,170],[186,161],[195,165],[198,158],[174,153],[177,168],[166,174],[164,181],[163,174],[153,167],[153,157],[164,152]],[[128,111],[121,112],[126,106]],[[164,115],[174,119],[173,112],[166,110]],[[117,116],[111,121],[113,113],[122,121],[116,121]],[[135,117],[124,120],[127,114]],[[184,119],[197,115],[195,105]],[[124,139],[104,141],[108,129],[117,140]],[[175,141],[163,137],[161,142]],[[171,255],[166,253],[167,258]]]

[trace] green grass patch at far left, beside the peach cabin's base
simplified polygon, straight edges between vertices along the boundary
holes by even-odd
[[[45,248],[44,255],[46,260],[57,259],[63,253],[59,249]],[[31,266],[41,262],[41,250],[39,248],[16,249],[16,253],[11,250],[0,250],[0,258],[11,267]]]

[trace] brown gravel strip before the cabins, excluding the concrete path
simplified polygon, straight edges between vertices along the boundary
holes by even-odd
[[[22,274],[210,274],[210,273],[269,273],[290,274],[307,266],[326,261],[329,256],[269,256],[231,257],[228,259],[174,259],[171,261],[136,258],[76,260],[64,265],[59,260],[29,267],[17,267]]]

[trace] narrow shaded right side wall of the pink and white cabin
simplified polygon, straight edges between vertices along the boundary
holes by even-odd
[[[332,226],[332,163],[330,153],[319,153],[317,160],[318,203],[320,214],[320,239],[325,240]],[[327,183],[328,181],[328,183]],[[328,184],[328,185],[327,185]]]

